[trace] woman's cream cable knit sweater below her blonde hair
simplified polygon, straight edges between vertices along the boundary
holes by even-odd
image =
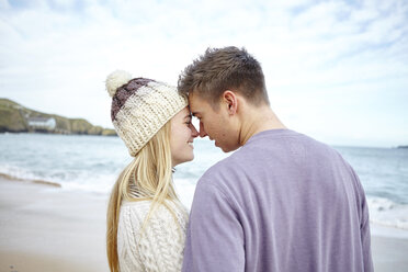
[[[123,202],[117,228],[117,254],[121,272],[181,271],[188,224],[182,204],[167,202],[151,215],[141,234],[141,226],[151,202]]]

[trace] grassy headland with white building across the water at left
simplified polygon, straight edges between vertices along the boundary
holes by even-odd
[[[0,99],[0,133],[54,133],[115,136],[114,129],[94,126],[83,118],[67,118],[30,110]]]

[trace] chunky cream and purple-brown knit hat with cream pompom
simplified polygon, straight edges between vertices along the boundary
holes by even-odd
[[[188,105],[175,87],[116,70],[106,78],[112,97],[111,118],[132,157],[177,113]]]

